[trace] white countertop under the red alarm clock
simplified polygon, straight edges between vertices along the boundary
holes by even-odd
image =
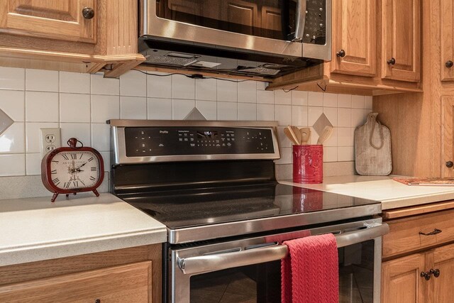
[[[0,266],[167,241],[167,229],[112,194],[0,200]]]

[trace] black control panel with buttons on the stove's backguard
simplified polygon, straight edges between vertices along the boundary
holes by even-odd
[[[126,127],[125,145],[126,157],[275,153],[270,128]]]

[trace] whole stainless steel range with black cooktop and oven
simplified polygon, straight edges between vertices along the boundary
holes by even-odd
[[[279,184],[277,123],[109,123],[111,191],[167,226],[163,302],[280,302],[282,241],[321,233],[341,302],[380,302],[380,202]]]

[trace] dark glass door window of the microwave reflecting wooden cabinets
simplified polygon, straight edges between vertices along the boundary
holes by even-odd
[[[157,17],[221,31],[292,40],[297,0],[160,0]]]

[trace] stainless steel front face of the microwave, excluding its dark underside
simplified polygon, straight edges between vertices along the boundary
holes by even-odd
[[[143,0],[142,9],[141,36],[331,60],[331,0]]]

